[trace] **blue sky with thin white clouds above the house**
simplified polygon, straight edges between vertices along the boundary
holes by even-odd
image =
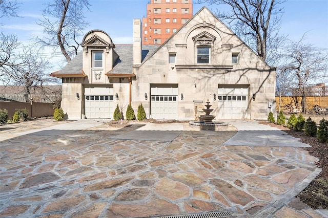
[[[27,42],[33,36],[43,33],[42,27],[36,24],[42,18],[45,3],[41,0],[18,0],[22,2],[18,15],[21,17],[3,17],[0,28],[7,34],[15,34],[19,41]],[[149,0],[90,0],[90,10],[86,20],[90,26],[84,34],[93,29],[107,32],[115,44],[132,43],[133,18],[146,15]],[[194,4],[193,13],[207,6],[215,11],[219,6]],[[328,0],[289,0],[282,5],[285,13],[282,16],[280,32],[292,40],[299,40],[306,33],[306,42],[314,47],[328,51]],[[221,6],[220,6],[221,7]],[[220,8],[224,10],[225,8]],[[229,9],[229,8],[227,8]],[[82,40],[82,39],[80,39]]]

